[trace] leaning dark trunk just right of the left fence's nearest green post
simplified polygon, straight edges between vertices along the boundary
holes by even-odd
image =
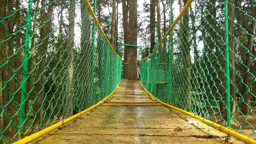
[[[40,28],[40,40],[42,42],[41,46],[39,46],[39,59],[40,63],[38,64],[38,81],[36,83],[36,93],[37,97],[35,100],[34,110],[36,112],[35,114],[35,120],[33,123],[33,128],[36,130],[40,129],[40,125],[43,122],[43,116],[44,116],[44,83],[45,83],[45,76],[44,71],[46,67],[46,51],[48,49],[48,40],[51,32],[51,26],[52,26],[52,11],[53,11],[53,3],[48,5],[47,8],[47,14],[45,14],[44,9],[46,6],[46,2],[44,0],[41,1],[41,12],[40,16],[42,18],[42,22],[46,22],[44,26]]]

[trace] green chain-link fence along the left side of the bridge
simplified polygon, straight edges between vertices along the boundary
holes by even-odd
[[[108,96],[122,60],[84,0],[2,0],[0,143],[14,142]]]

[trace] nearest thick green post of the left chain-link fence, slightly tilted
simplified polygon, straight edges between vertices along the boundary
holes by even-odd
[[[19,132],[18,139],[22,139],[22,131],[24,125],[24,109],[25,109],[25,100],[26,100],[26,82],[28,79],[28,56],[29,56],[29,41],[30,41],[30,28],[31,28],[31,17],[32,17],[32,2],[34,0],[29,0],[28,2],[28,16],[27,16],[27,28],[26,28],[26,41],[24,46],[24,62],[23,62],[23,74],[22,74],[22,83],[21,83],[21,95],[20,95],[20,109],[19,109]]]

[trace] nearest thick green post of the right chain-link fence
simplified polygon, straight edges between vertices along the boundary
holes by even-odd
[[[227,122],[228,127],[231,128],[231,112],[230,112],[230,76],[229,76],[229,45],[228,45],[228,2],[224,0],[225,7],[224,7],[224,16],[225,16],[225,63],[226,63],[226,106],[227,106]]]

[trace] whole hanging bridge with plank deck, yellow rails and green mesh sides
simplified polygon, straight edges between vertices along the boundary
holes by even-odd
[[[4,1],[0,144],[255,144],[256,6],[238,3],[184,0],[131,81],[96,3]]]

